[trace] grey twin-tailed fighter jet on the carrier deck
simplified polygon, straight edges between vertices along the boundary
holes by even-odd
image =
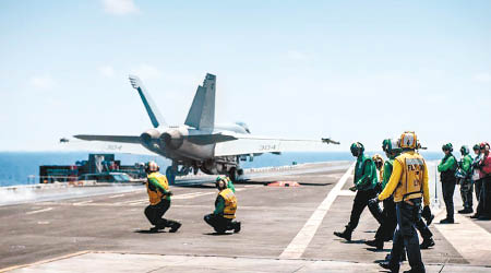
[[[279,154],[286,151],[302,151],[306,145],[336,143],[327,139],[287,140],[252,135],[243,122],[215,124],[216,76],[206,74],[203,85],[197,86],[184,124],[168,126],[142,81],[130,75],[130,82],[143,102],[153,129],[141,135],[93,135],[79,134],[85,141],[103,141],[141,144],[152,153],[171,159],[166,170],[169,183],[176,176],[185,176],[202,170],[208,175],[228,175],[238,180],[243,174],[240,161],[250,161],[263,153]]]

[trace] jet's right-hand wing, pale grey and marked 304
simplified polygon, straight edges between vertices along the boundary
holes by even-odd
[[[215,156],[230,156],[260,153],[327,151],[326,142],[320,140],[275,139],[235,134],[237,140],[217,143]]]

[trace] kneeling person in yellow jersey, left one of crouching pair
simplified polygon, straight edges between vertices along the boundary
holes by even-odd
[[[158,232],[166,227],[170,227],[169,233],[176,233],[181,224],[177,221],[163,218],[164,214],[170,207],[169,183],[166,176],[158,173],[159,167],[155,162],[148,162],[145,166],[147,174],[146,192],[148,193],[149,205],[145,209],[145,216],[149,223],[154,225],[151,232]]]

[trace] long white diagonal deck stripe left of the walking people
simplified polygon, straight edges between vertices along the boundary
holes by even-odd
[[[288,247],[283,251],[279,256],[279,259],[299,259],[302,257],[310,241],[314,237],[318,232],[319,226],[324,219],[325,214],[330,210],[334,200],[343,189],[343,186],[348,180],[349,176],[355,168],[355,164],[352,164],[348,170],[346,170],[345,175],[339,179],[339,181],[334,186],[334,188],[330,191],[327,197],[322,201],[322,203],[318,206],[318,209],[312,213],[309,221],[307,221],[306,225],[303,225],[302,229],[297,234],[297,236],[291,240]]]

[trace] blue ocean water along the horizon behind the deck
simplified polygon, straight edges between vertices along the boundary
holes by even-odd
[[[382,152],[376,152],[383,154]],[[0,187],[12,185],[37,183],[39,181],[40,165],[74,165],[77,161],[88,159],[89,152],[0,152]],[[375,152],[369,152],[369,155]],[[440,159],[442,153],[422,153],[428,161]],[[161,169],[170,165],[170,161],[160,156],[116,154],[116,159],[122,165],[133,165],[156,161]],[[333,161],[354,161],[348,152],[328,153],[283,153],[282,155],[263,154],[254,157],[252,162],[241,162],[243,168],[260,168],[271,166],[286,166],[294,162],[315,163]]]

